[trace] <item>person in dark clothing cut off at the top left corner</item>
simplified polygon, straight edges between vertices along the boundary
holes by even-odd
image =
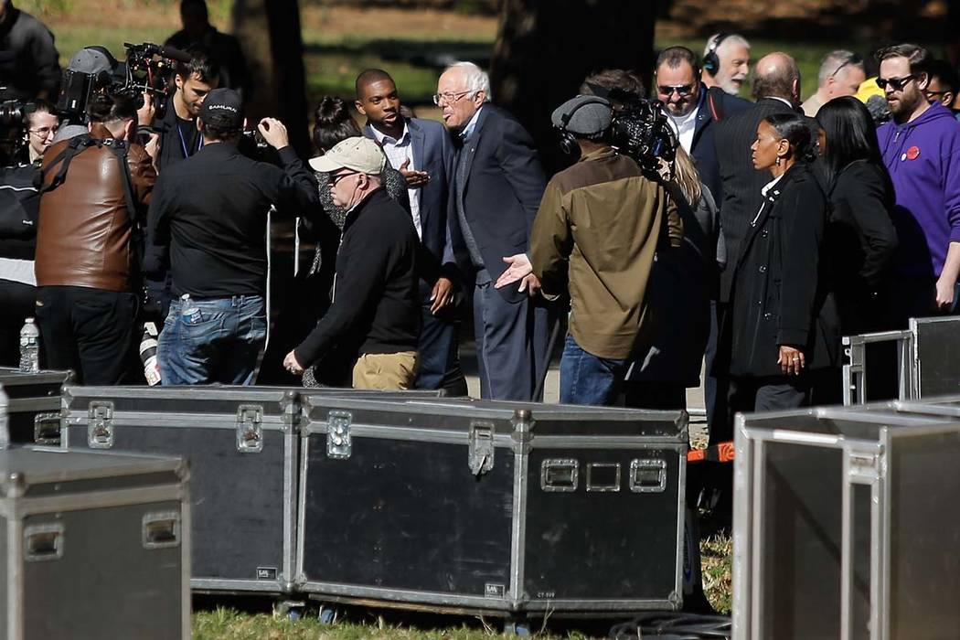
[[[54,36],[30,13],[0,0],[0,100],[54,100],[60,86]]]

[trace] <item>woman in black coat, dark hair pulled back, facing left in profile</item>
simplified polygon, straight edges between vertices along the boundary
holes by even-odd
[[[808,167],[814,145],[794,113],[760,122],[754,166],[773,178],[733,265],[725,327],[734,411],[809,401],[816,372],[836,367],[839,322],[823,254],[827,196]]]

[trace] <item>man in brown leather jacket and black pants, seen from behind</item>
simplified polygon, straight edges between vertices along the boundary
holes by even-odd
[[[89,132],[54,144],[42,164],[36,236],[36,320],[46,365],[82,384],[124,381],[137,315],[138,221],[156,172],[128,143],[136,101],[102,91],[87,105]]]

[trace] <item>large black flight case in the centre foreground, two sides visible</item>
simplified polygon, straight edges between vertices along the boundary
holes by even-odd
[[[681,607],[685,412],[300,401],[312,598],[514,620]]]

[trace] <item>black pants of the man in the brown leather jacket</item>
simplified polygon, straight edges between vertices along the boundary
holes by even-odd
[[[38,287],[36,321],[46,367],[72,369],[84,385],[128,382],[137,314],[133,294]]]

